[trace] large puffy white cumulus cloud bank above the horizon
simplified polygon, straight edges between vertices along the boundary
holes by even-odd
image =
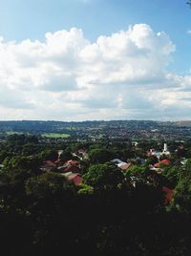
[[[101,35],[93,43],[76,28],[48,32],[43,42],[0,37],[0,115],[174,118],[180,115],[177,108],[191,108],[191,76],[167,69],[175,51],[165,32],[146,24]]]

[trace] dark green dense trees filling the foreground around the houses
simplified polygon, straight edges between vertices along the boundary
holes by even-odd
[[[156,158],[145,149],[120,143],[44,143],[30,135],[12,135],[0,143],[0,245],[3,255],[190,255],[191,149],[171,141],[171,165],[149,169]],[[159,146],[159,145],[158,145]],[[43,172],[44,160],[78,159],[83,183],[74,185],[55,170]],[[115,156],[134,163],[126,171]],[[165,203],[163,187],[174,190]]]

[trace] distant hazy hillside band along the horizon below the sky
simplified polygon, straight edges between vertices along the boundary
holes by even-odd
[[[71,139],[191,139],[191,121],[0,121],[0,135],[30,133]]]

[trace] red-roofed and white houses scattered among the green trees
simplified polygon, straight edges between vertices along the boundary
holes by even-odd
[[[138,142],[134,143],[138,147]],[[183,146],[180,146],[180,150]],[[56,172],[60,176],[65,177],[68,181],[73,181],[75,185],[81,184],[83,182],[83,173],[81,170],[80,161],[89,161],[88,151],[84,148],[78,149],[76,152],[72,153],[74,159],[63,161],[62,160],[62,150],[57,152],[57,160],[46,160],[41,166],[43,172]],[[145,158],[146,157],[146,158]],[[151,161],[150,164],[148,162]],[[180,160],[180,166],[186,163],[186,159],[182,158]],[[162,174],[165,167],[172,166],[171,162],[171,152],[168,150],[167,143],[163,144],[163,149],[157,151],[155,149],[149,149],[145,152],[144,158],[134,158],[129,161],[124,161],[120,159],[112,159],[109,162],[117,166],[118,171],[125,173],[130,170],[133,166],[146,166],[146,168],[156,174]],[[136,186],[136,177],[131,177],[132,184]],[[152,179],[148,182],[154,182]],[[168,186],[162,186],[162,190],[165,193],[165,203],[171,203],[173,200],[174,189]]]

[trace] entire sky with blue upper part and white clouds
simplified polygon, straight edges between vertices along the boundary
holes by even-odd
[[[180,0],[0,0],[0,119],[191,119]]]

